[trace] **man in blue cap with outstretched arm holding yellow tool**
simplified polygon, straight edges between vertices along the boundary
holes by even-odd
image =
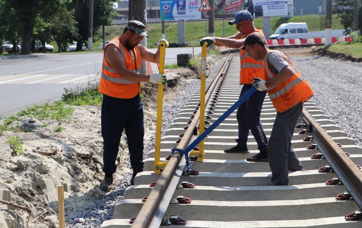
[[[226,46],[229,48],[241,48],[244,45],[244,40],[247,35],[252,32],[258,32],[264,37],[261,29],[254,26],[253,17],[247,10],[241,10],[235,15],[235,19],[229,22],[230,25],[236,25],[236,32],[233,36],[226,38],[220,37],[205,37],[202,38],[200,43],[207,41],[209,44],[215,46]],[[240,96],[243,96],[251,87],[254,78],[264,79],[264,66],[263,63],[251,58],[247,52],[240,49]],[[268,154],[266,153],[268,146],[268,139],[265,136],[264,128],[260,121],[261,107],[264,102],[266,91],[256,91],[248,98],[243,104],[239,106],[236,112],[236,119],[238,123],[238,138],[236,146],[224,150],[225,153],[248,153],[247,140],[249,130],[254,136],[260,153],[247,158],[250,162],[267,162]]]

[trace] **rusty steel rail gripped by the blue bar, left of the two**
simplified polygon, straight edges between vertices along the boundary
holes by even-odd
[[[214,80],[210,84],[205,95],[205,107],[210,102],[212,93],[219,84],[224,71],[227,70],[226,67],[230,64],[231,59],[232,55],[230,54],[221,67],[219,73],[215,76]],[[193,135],[198,135],[199,122],[200,109],[198,109],[197,113],[195,114],[177,148],[185,149],[190,144]],[[181,177],[180,172],[177,171],[182,171],[184,168],[185,157],[181,155],[180,152],[173,153],[167,166],[160,175],[160,178],[157,180],[155,187],[153,187],[151,190],[147,201],[139,211],[134,223],[131,226],[132,228],[159,227],[167,210],[167,206],[171,201],[172,194],[177,187],[178,180]],[[160,207],[160,205],[164,205],[165,207]]]

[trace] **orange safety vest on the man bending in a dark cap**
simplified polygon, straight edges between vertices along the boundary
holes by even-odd
[[[304,79],[299,71],[294,67],[293,63],[290,62],[289,58],[286,57],[285,54],[276,50],[268,50],[264,58],[266,80],[270,80],[276,76],[276,74],[271,72],[268,67],[268,56],[271,52],[280,54],[294,71],[294,75],[291,78],[268,90],[269,98],[271,102],[273,102],[274,108],[279,113],[282,113],[289,110],[300,101],[304,103],[314,95],[314,92],[306,79]]]

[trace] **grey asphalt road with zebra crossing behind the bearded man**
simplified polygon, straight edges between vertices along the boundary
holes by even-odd
[[[167,48],[165,64],[177,63],[177,54],[200,52],[201,47]],[[101,71],[102,60],[102,52],[0,57],[0,118],[59,100],[64,88],[84,86]]]

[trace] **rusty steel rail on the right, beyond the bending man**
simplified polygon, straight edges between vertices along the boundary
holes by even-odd
[[[329,137],[321,126],[311,117],[306,109],[302,112],[303,122],[310,135],[315,139],[318,149],[321,151],[333,171],[337,174],[342,184],[352,195],[358,207],[362,209],[362,172],[355,163],[343,152],[336,142]]]

